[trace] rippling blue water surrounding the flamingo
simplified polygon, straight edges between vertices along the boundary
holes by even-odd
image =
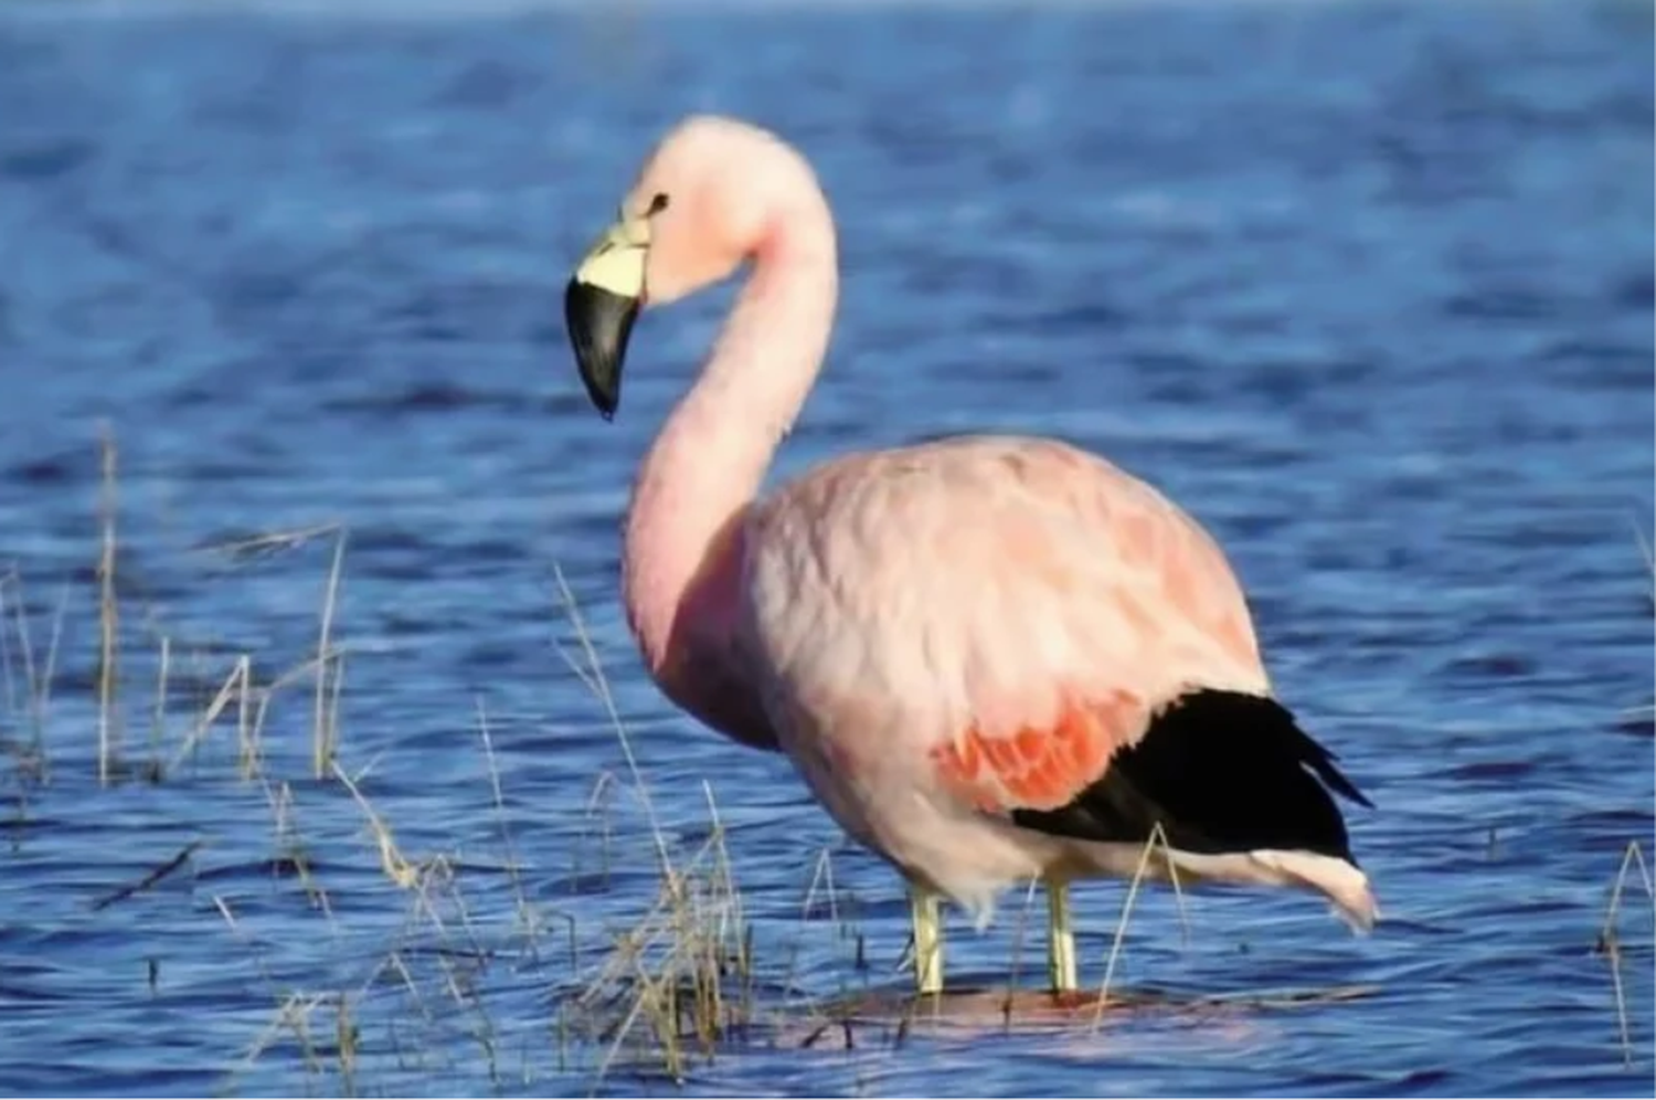
[[[704,782],[717,800],[762,999],[803,1019],[800,997],[901,989],[893,876],[835,847],[783,760],[666,706],[619,623],[628,477],[729,292],[647,318],[614,424],[558,300],[692,109],[790,134],[840,219],[831,363],[778,475],[1013,429],[1176,495],[1249,583],[1280,691],[1374,797],[1353,828],[1391,919],[1355,939],[1307,898],[1211,891],[1184,938],[1153,891],[1129,989],[1368,994],[896,1050],[800,1050],[783,1027],[686,1088],[1649,1088],[1641,888],[1626,1047],[1595,951],[1653,820],[1648,8],[136,7],[0,13],[0,1090],[590,1090],[603,1049],[560,1039],[560,1006],[656,871],[604,709],[560,656],[558,570],[676,860],[709,835]],[[128,765],[108,787],[103,422]],[[440,924],[349,792],[310,779],[333,535],[224,548],[335,523],[339,764],[407,858],[459,863]],[[197,736],[242,654],[255,686],[298,669],[253,780],[235,702]],[[833,906],[811,891],[825,850]],[[1085,981],[1121,898],[1076,891]],[[952,976],[1004,981],[1020,901],[982,939],[952,924]],[[599,1087],[672,1092],[624,1057]]]

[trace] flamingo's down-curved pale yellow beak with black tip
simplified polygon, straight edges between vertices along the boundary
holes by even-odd
[[[621,404],[621,368],[644,305],[649,224],[619,220],[586,253],[563,292],[563,320],[586,396],[603,417]]]

